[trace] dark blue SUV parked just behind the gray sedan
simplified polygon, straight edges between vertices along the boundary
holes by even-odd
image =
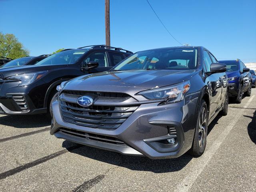
[[[243,93],[245,96],[251,96],[252,75],[249,72],[250,69],[246,68],[239,59],[219,61],[219,63],[227,66],[229,96],[234,102],[241,103]]]

